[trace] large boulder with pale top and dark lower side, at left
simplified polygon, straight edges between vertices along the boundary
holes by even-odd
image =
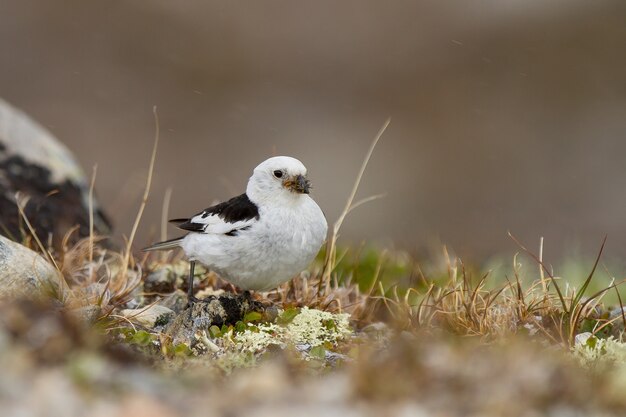
[[[39,237],[52,234],[59,246],[67,231],[79,225],[89,234],[89,181],[72,153],[26,114],[0,99],[0,233],[21,237],[15,193],[29,197],[25,213]],[[94,227],[100,234],[110,224],[94,202]]]

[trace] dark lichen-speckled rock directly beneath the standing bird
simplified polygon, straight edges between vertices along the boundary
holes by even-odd
[[[235,324],[251,311],[264,311],[261,303],[250,296],[223,294],[219,297],[202,300],[180,313],[165,329],[174,346],[185,343],[192,346],[195,334],[208,330],[211,326]]]

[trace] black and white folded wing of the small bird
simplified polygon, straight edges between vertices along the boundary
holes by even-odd
[[[244,193],[204,209],[189,219],[174,219],[179,229],[196,233],[237,235],[259,219],[259,208]]]

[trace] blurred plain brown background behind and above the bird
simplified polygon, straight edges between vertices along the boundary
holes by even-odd
[[[392,122],[344,242],[462,258],[626,253],[626,2],[21,0],[0,4],[0,97],[63,141],[137,246],[301,159],[330,222]],[[170,236],[176,232],[169,230]]]

